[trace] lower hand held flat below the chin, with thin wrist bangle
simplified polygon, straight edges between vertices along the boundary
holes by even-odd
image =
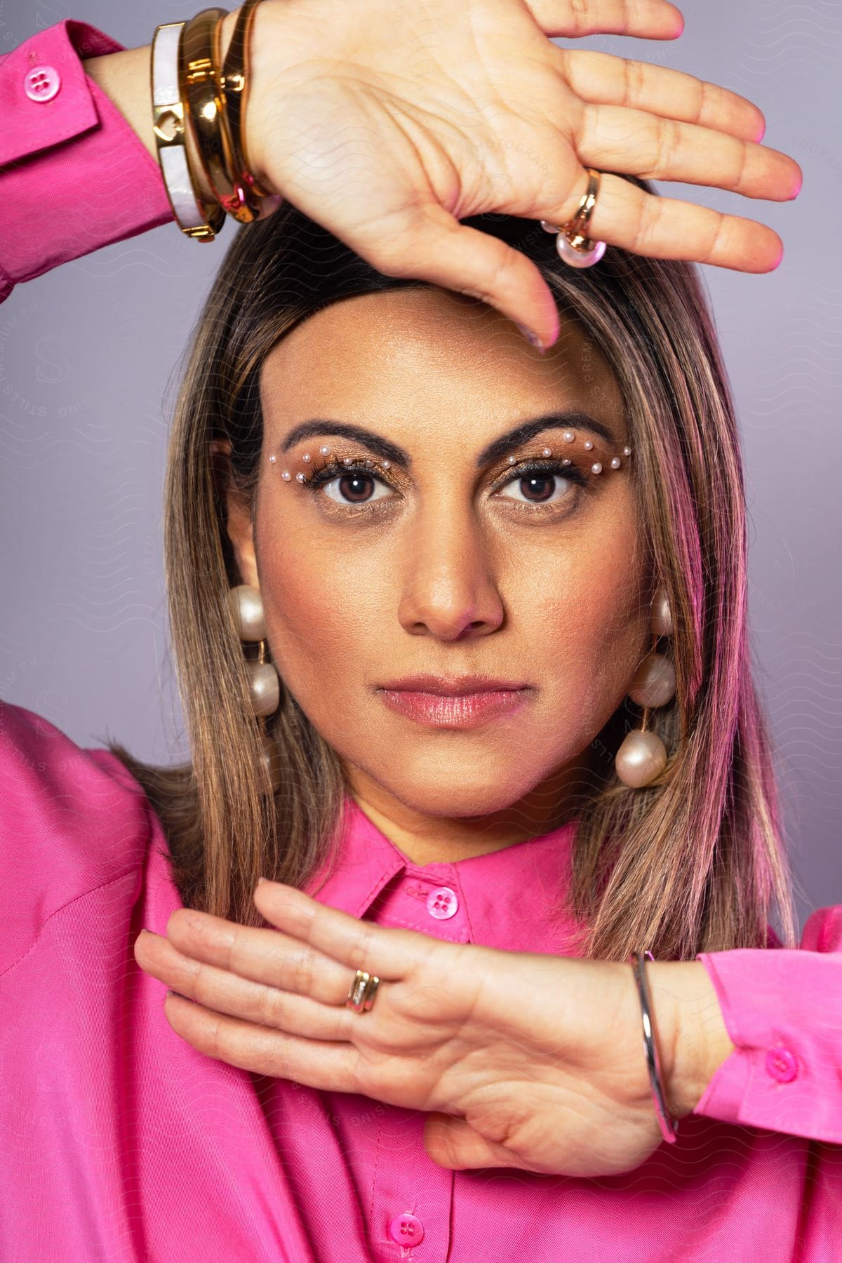
[[[199,1052],[428,1111],[427,1152],[453,1170],[612,1175],[661,1142],[629,965],[451,943],[359,921],[275,882],[258,887],[255,904],[276,928],[179,908],[167,937],[136,940],[140,967],[179,993],[165,999],[168,1022]],[[381,979],[366,1013],[345,1005],[357,967]],[[675,1074],[674,1000],[687,979],[703,999],[703,966],[649,969],[664,971],[653,1008],[682,1114],[716,1068],[706,1041],[687,1061],[696,1079]]]

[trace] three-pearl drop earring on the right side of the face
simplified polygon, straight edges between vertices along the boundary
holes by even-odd
[[[656,733],[648,730],[649,711],[654,706],[665,706],[675,696],[675,668],[669,658],[654,650],[658,637],[672,635],[673,632],[669,600],[663,587],[653,597],[650,626],[653,650],[644,658],[629,688],[629,697],[644,709],[643,720],[640,727],[626,733],[614,760],[617,777],[631,789],[651,784],[667,764],[667,746]]]

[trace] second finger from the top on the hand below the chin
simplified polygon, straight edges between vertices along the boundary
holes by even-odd
[[[309,995],[323,1004],[343,1003],[351,986],[345,965],[276,930],[241,926],[206,912],[178,908],[167,923],[167,935],[187,956],[252,983]]]

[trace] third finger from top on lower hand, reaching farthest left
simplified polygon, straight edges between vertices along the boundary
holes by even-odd
[[[355,1014],[343,1005],[323,1004],[309,995],[292,995],[271,985],[252,983],[227,969],[183,955],[160,935],[144,935],[138,962],[144,973],[186,999],[217,1013],[312,1039],[350,1041]],[[347,991],[346,978],[343,1000]]]

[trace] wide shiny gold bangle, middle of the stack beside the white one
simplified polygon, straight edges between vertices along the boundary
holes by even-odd
[[[240,224],[251,224],[258,207],[232,174],[231,144],[220,92],[218,33],[226,9],[202,9],[187,23],[182,38],[179,83],[187,121],[196,139],[207,181],[220,206]]]

